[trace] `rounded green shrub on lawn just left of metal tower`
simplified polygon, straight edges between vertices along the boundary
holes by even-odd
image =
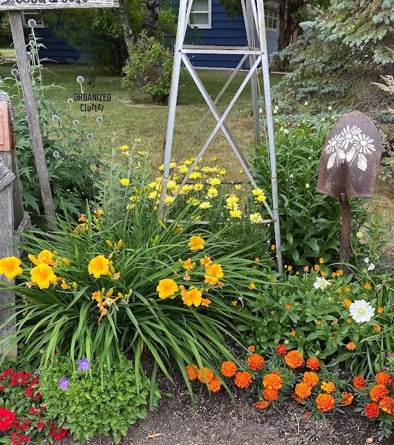
[[[170,94],[173,55],[156,38],[141,35],[123,68],[122,85],[130,94],[147,92],[154,102],[165,104]]]

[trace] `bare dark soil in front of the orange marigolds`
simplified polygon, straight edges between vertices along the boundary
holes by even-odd
[[[161,380],[161,379],[160,379]],[[201,385],[202,386],[202,385]],[[377,423],[347,408],[345,415],[314,421],[297,403],[277,409],[257,410],[251,397],[239,391],[235,404],[226,391],[196,394],[191,407],[184,384],[178,389],[168,380],[159,382],[162,398],[148,419],[138,421],[123,439],[125,445],[393,445],[394,437],[377,441]],[[166,395],[167,394],[167,395]],[[155,435],[155,437],[150,437]],[[72,441],[68,441],[72,444]],[[90,440],[90,445],[109,445],[108,437]]]

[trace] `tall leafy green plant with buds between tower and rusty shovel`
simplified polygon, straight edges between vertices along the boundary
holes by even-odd
[[[310,127],[306,121],[294,127],[277,127],[276,162],[278,171],[279,215],[283,239],[283,261],[287,265],[313,266],[320,257],[337,261],[340,248],[340,204],[332,197],[315,192],[320,153],[330,124]],[[257,147],[253,174],[271,201],[271,175],[267,145]],[[352,239],[368,220],[363,200],[352,200]],[[271,227],[274,239],[274,227]]]

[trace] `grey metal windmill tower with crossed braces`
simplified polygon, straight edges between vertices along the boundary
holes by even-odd
[[[209,107],[207,114],[204,116],[203,121],[198,126],[196,131],[194,131],[193,135],[189,139],[187,146],[191,144],[191,141],[194,140],[194,137],[203,126],[205,120],[212,115],[214,116],[217,124],[212,133],[210,134],[207,142],[200,150],[198,156],[196,156],[196,160],[191,165],[189,172],[184,177],[182,184],[180,184],[180,188],[177,193],[175,193],[174,197],[177,197],[182,186],[186,184],[189,179],[189,175],[194,171],[199,159],[205,153],[207,147],[209,147],[210,143],[216,136],[216,133],[221,130],[223,131],[224,136],[228,140],[230,147],[232,147],[235,155],[237,156],[239,163],[241,163],[242,168],[246,172],[246,175],[249,177],[251,183],[255,188],[258,186],[255,184],[255,181],[251,175],[250,167],[248,161],[245,159],[241,150],[235,143],[235,139],[233,135],[230,133],[228,126],[226,124],[226,118],[228,113],[230,113],[233,108],[235,102],[237,101],[239,95],[241,95],[242,90],[244,90],[245,86],[249,81],[251,81],[251,89],[252,89],[252,99],[253,99],[253,122],[254,122],[254,133],[255,133],[255,141],[260,143],[260,117],[259,117],[259,88],[258,88],[258,67],[262,67],[262,76],[263,76],[263,84],[264,84],[264,104],[265,104],[265,115],[267,122],[267,136],[269,142],[269,160],[271,164],[271,195],[272,209],[269,207],[269,204],[265,201],[265,207],[271,217],[271,221],[274,222],[275,227],[275,238],[276,238],[276,251],[278,254],[278,270],[280,272],[283,271],[282,265],[282,255],[281,255],[281,231],[279,224],[279,214],[278,214],[278,181],[276,176],[276,153],[275,153],[275,141],[274,141],[274,123],[272,119],[272,105],[271,105],[271,92],[270,92],[270,83],[269,83],[269,63],[268,63],[268,52],[267,52],[267,39],[265,34],[265,13],[264,13],[264,1],[263,0],[241,0],[242,3],[242,11],[244,15],[244,23],[246,29],[246,38],[247,38],[247,47],[232,47],[232,46],[210,46],[210,45],[189,45],[184,44],[185,35],[187,31],[187,24],[189,23],[189,17],[191,13],[191,8],[193,5],[193,0],[180,0],[180,10],[178,17],[178,31],[175,41],[174,48],[174,65],[173,65],[173,78],[171,83],[171,92],[170,97],[168,99],[168,120],[167,120],[167,131],[166,131],[166,146],[164,152],[164,176],[161,182],[161,195],[160,195],[160,203],[159,203],[159,218],[162,219],[164,216],[164,198],[167,193],[167,184],[170,176],[170,163],[171,163],[171,152],[173,147],[173,136],[174,136],[174,124],[175,124],[175,112],[176,112],[176,104],[178,98],[178,88],[180,81],[180,69],[182,62],[184,66],[189,71],[192,79],[196,83],[198,90],[200,90],[201,95],[203,95],[205,102]],[[257,35],[257,39],[256,39]],[[194,66],[191,64],[189,59],[190,55],[193,54],[233,54],[233,55],[242,55],[242,60],[239,62],[237,67],[235,68],[233,74],[231,74],[225,86],[219,93],[218,97],[215,100],[212,100],[207,90],[203,86]],[[235,75],[241,69],[244,62],[249,58],[249,72],[247,73],[242,85],[239,87],[235,96],[231,100],[230,104],[226,108],[223,114],[219,113],[216,108],[216,102],[219,100],[223,92],[226,91],[230,82],[234,79]],[[268,222],[268,221],[267,221]]]

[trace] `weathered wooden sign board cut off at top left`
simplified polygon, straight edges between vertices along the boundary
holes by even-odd
[[[0,10],[118,8],[118,0],[1,0]]]

